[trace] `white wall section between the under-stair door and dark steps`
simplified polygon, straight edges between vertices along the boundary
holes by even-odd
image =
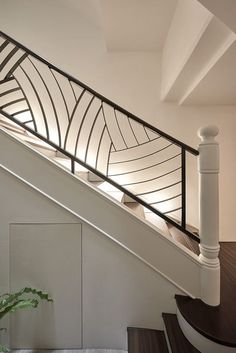
[[[83,235],[83,342],[127,349],[127,326],[163,330],[162,312],[176,312],[173,285],[92,228]]]

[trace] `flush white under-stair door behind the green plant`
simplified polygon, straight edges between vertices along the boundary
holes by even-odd
[[[11,315],[11,348],[81,348],[80,224],[10,225],[10,289],[25,286],[54,301]]]

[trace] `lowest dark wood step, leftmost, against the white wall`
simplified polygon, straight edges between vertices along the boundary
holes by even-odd
[[[128,353],[168,353],[163,331],[128,327]]]

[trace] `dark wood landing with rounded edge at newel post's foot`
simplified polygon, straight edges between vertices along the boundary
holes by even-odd
[[[199,299],[176,296],[185,319],[215,342],[236,347],[236,242],[221,243],[221,304],[210,307]]]

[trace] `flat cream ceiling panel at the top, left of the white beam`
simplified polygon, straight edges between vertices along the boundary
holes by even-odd
[[[100,0],[109,51],[160,51],[176,0]]]

